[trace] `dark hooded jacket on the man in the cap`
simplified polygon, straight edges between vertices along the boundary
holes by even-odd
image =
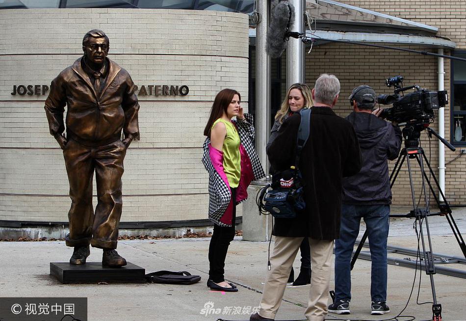
[[[346,119],[358,136],[362,168],[358,174],[343,179],[342,203],[391,204],[387,160],[395,160],[400,153],[400,129],[367,112],[352,112]]]

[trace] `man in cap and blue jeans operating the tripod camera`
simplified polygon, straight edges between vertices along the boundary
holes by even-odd
[[[329,312],[349,314],[351,300],[350,261],[359,233],[361,217],[368,231],[372,260],[370,295],[371,314],[390,312],[387,301],[387,237],[391,204],[388,160],[398,157],[401,131],[378,118],[381,109],[372,112],[375,91],[361,85],[353,89],[349,100],[354,111],[346,119],[353,124],[362,153],[362,169],[343,180],[340,238],[335,247],[335,300]]]

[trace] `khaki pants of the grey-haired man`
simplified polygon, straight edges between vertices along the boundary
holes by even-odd
[[[271,270],[268,271],[259,315],[275,319],[285,292],[291,267],[296,253],[304,238],[275,237],[275,246],[270,258]],[[313,240],[311,245],[311,286],[306,318],[310,321],[323,321],[327,315],[330,276],[332,273],[332,252],[334,241]]]

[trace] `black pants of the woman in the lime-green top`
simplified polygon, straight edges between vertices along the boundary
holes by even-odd
[[[215,283],[225,281],[225,258],[227,257],[228,246],[233,241],[235,233],[236,219],[236,188],[231,188],[233,199],[233,220],[232,226],[220,226],[214,224],[212,238],[209,245],[209,279]]]

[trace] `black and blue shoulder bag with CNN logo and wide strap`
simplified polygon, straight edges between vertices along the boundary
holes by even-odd
[[[259,190],[257,204],[259,212],[272,214],[275,218],[294,218],[296,211],[304,210],[303,184],[299,168],[297,168],[301,151],[310,133],[311,109],[302,109],[301,123],[298,130],[295,165],[272,177],[272,184]],[[272,187],[272,189],[268,189]]]

